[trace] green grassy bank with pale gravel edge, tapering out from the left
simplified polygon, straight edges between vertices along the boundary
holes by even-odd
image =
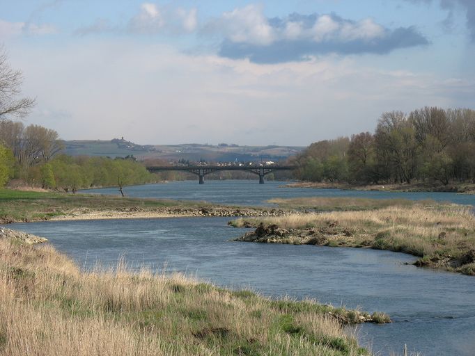
[[[228,207],[208,202],[139,199],[0,189],[0,224],[192,216],[283,216],[286,209]]]

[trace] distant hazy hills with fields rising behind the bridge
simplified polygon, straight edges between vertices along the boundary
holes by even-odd
[[[220,143],[219,145],[138,145],[124,138],[113,140],[70,140],[65,141],[65,154],[72,156],[124,157],[134,155],[138,159],[162,159],[166,161],[279,161],[293,156],[305,147],[298,146],[239,146]]]

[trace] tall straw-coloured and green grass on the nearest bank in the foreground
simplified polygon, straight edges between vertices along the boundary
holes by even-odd
[[[368,316],[354,310],[123,264],[81,272],[48,245],[0,239],[0,256],[0,355],[369,354],[343,331]]]

